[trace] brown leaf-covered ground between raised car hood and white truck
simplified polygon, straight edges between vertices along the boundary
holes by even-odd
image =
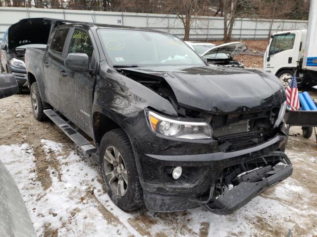
[[[239,40],[235,40],[239,41]],[[263,68],[263,54],[268,44],[267,40],[241,40],[248,46],[247,54],[240,54],[234,57],[235,60],[240,61],[247,68]],[[222,40],[210,41],[214,44],[222,44]],[[254,54],[254,55],[250,55]]]

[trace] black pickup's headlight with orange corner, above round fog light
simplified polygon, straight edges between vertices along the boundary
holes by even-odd
[[[154,132],[183,139],[211,139],[212,129],[207,122],[192,122],[163,117],[148,111],[148,119]]]

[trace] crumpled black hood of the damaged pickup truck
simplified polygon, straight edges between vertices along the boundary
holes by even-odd
[[[217,66],[121,70],[142,77],[164,79],[172,88],[179,105],[216,114],[271,109],[286,99],[279,80],[258,70]]]

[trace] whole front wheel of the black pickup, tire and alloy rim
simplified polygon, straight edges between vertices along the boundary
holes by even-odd
[[[107,193],[117,206],[125,211],[132,211],[144,205],[132,146],[122,129],[113,129],[103,136],[99,163]]]

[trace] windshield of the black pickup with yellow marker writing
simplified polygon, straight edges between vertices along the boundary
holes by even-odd
[[[168,34],[120,29],[100,29],[98,34],[114,67],[205,66],[182,40]]]

